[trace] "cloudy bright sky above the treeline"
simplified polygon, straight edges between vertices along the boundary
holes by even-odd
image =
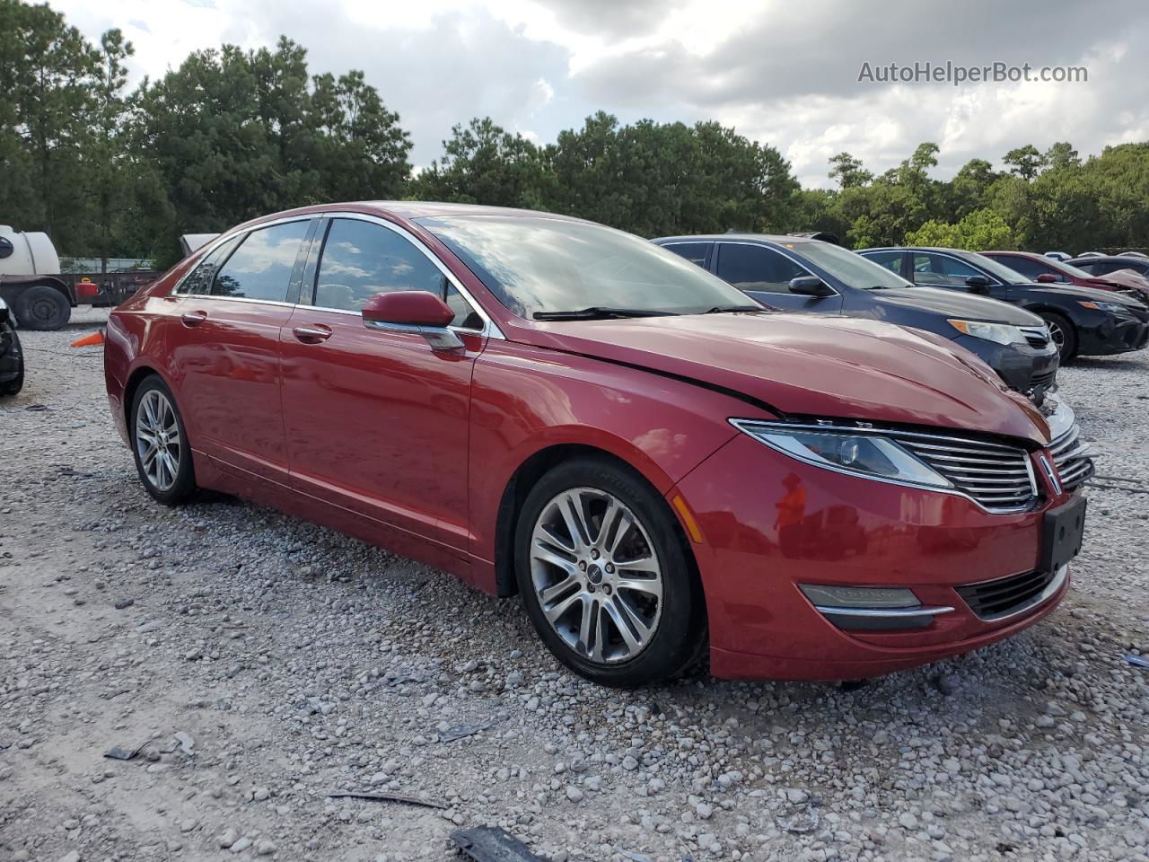
[[[973,157],[1071,141],[1082,155],[1149,140],[1144,0],[52,0],[95,40],[118,26],[131,83],[198,48],[286,34],[313,74],[362,69],[414,141],[439,156],[456,123],[491,116],[549,143],[596,110],[623,122],[717,120],[831,186],[847,151],[876,174],[921,141],[935,176]],[[1084,67],[1085,82],[884,83],[890,63]],[[869,64],[865,67],[864,64]],[[867,79],[859,80],[865,69]]]

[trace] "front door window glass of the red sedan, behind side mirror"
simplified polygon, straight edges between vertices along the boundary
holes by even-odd
[[[315,305],[360,311],[377,293],[427,291],[442,299],[452,325],[483,329],[483,318],[454,285],[404,237],[357,218],[336,218],[327,231],[315,285]]]

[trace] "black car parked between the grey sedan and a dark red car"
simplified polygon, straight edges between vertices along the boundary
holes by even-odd
[[[1140,351],[1149,341],[1149,307],[1124,293],[1031,282],[994,257],[958,248],[865,248],[858,254],[915,284],[981,293],[1036,314],[1063,362]]]

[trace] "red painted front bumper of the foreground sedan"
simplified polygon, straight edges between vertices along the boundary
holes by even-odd
[[[802,488],[795,515],[787,493]],[[977,649],[1050,613],[1069,585],[1017,615],[982,619],[958,587],[1034,572],[1048,486],[1031,510],[989,514],[971,500],[843,476],[772,453],[745,434],[670,492],[681,494],[710,622],[711,670],[728,678],[849,679]],[[800,584],[907,587],[924,625],[845,629]]]

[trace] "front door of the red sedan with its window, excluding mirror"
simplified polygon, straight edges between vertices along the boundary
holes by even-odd
[[[457,309],[465,349],[363,325],[377,293],[425,290]],[[284,426],[294,487],[391,528],[466,552],[471,375],[483,320],[446,269],[381,220],[334,217],[315,279],[280,336]],[[415,549],[412,549],[412,547]]]

